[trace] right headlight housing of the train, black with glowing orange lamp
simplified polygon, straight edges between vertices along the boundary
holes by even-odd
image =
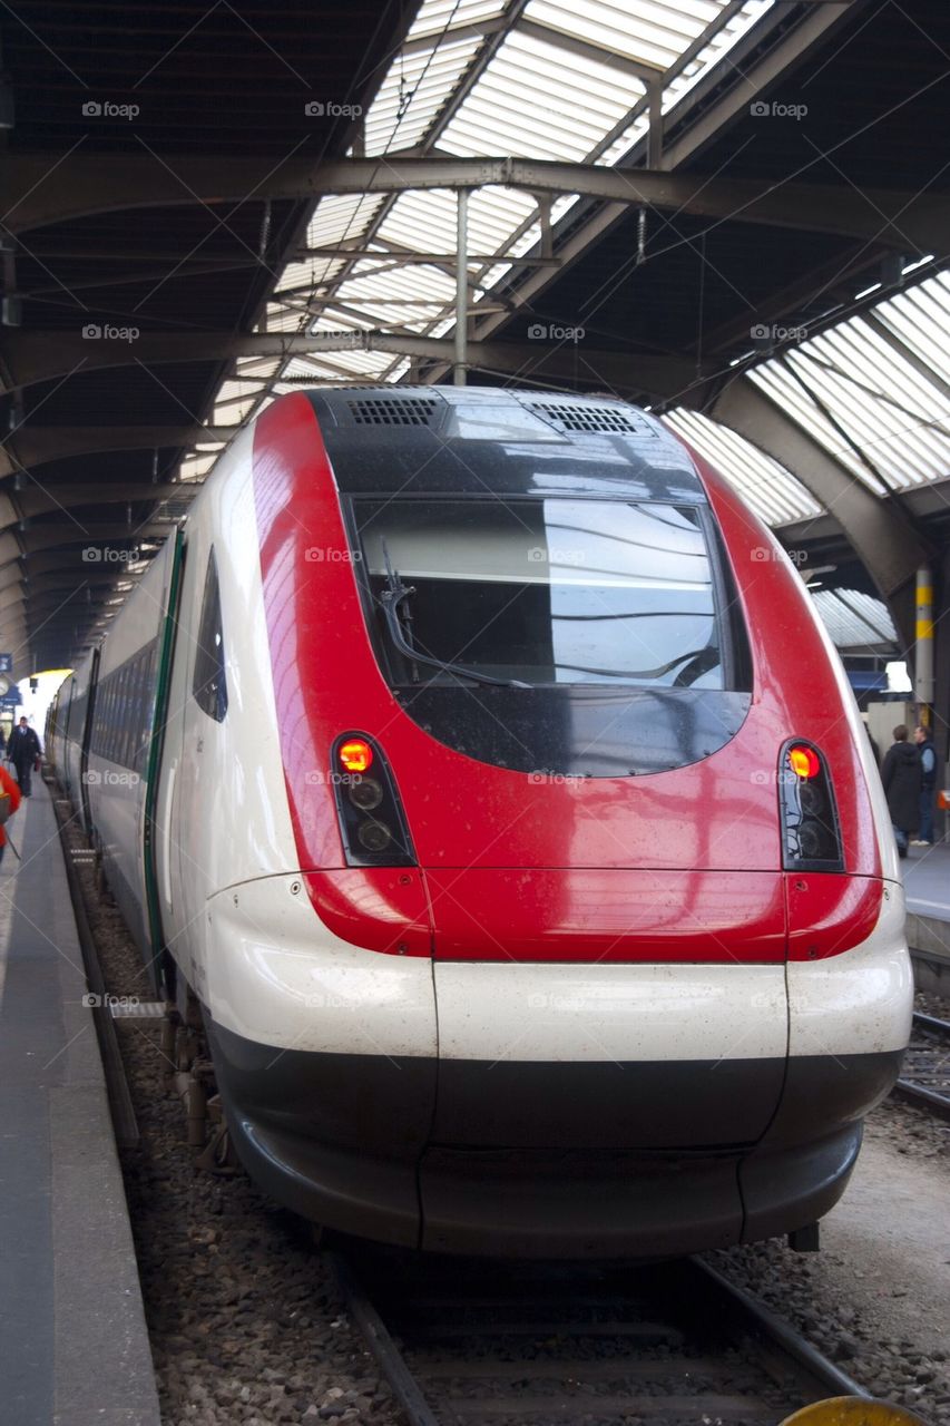
[[[824,757],[803,739],[779,754],[782,866],[786,871],[843,871],[842,829]]]

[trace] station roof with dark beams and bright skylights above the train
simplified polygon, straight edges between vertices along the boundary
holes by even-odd
[[[36,0],[0,43],[0,640],[31,666],[103,630],[274,394],[446,379],[469,181],[469,379],[638,399],[797,539],[840,475],[906,578],[950,476],[946,6]],[[321,193],[344,155],[378,191]],[[81,337],[108,325],[138,335]],[[103,542],[130,558],[83,563]]]

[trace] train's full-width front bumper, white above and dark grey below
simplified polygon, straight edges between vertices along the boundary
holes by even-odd
[[[238,1154],[304,1216],[387,1242],[648,1258],[803,1226],[906,1041],[893,917],[814,965],[525,967],[349,945],[292,878],[211,907]]]

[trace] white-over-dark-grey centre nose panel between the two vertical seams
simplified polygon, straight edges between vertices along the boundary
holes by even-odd
[[[782,1094],[785,965],[436,963],[432,1139],[753,1144]]]

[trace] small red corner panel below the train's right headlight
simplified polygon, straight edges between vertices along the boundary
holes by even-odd
[[[839,877],[827,871],[786,873],[789,960],[842,955],[867,940],[880,917],[879,877]]]

